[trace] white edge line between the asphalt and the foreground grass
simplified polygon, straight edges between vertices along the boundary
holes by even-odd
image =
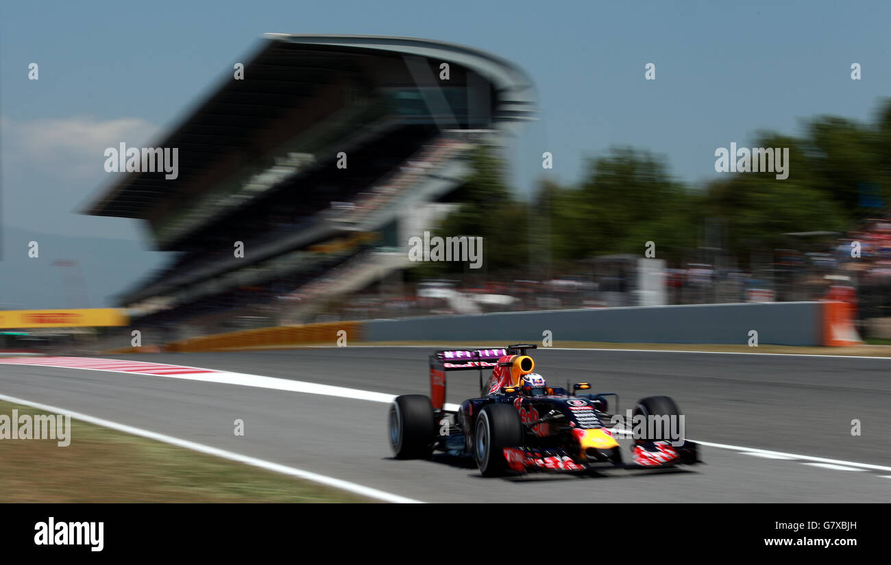
[[[25,404],[54,414],[67,414],[76,420],[87,422],[89,424],[101,425],[102,427],[111,428],[112,430],[118,430],[119,432],[142,436],[143,438],[148,438],[150,440],[163,441],[164,443],[169,443],[180,448],[192,449],[192,451],[199,451],[200,453],[206,453],[211,456],[222,457],[231,461],[253,465],[255,467],[266,469],[268,471],[281,472],[282,474],[291,475],[292,477],[298,477],[299,479],[312,480],[313,482],[328,485],[329,487],[347,490],[348,492],[352,492],[357,495],[368,496],[369,498],[375,498],[377,500],[383,500],[385,502],[421,502],[420,500],[414,500],[413,498],[406,498],[405,496],[394,495],[383,490],[378,490],[377,488],[365,487],[364,485],[356,484],[355,482],[349,482],[348,480],[335,479],[333,477],[320,475],[315,472],[304,471],[295,467],[289,467],[287,465],[277,464],[271,461],[265,461],[263,459],[257,459],[256,457],[242,456],[241,454],[233,453],[232,451],[226,451],[225,449],[212,448],[200,443],[195,443],[194,441],[180,440],[179,438],[174,438],[163,433],[150,432],[148,430],[135,428],[134,426],[127,424],[118,424],[117,422],[103,420],[102,418],[97,418],[95,416],[88,416],[86,414],[72,412],[71,410],[66,410],[65,408],[49,406],[31,400],[18,399],[12,396],[7,396],[5,394],[0,394],[0,400],[6,400],[7,402],[14,402],[17,404]]]

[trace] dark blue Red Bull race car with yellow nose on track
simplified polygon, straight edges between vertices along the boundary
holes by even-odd
[[[584,392],[589,383],[575,383],[572,391],[549,385],[527,355],[535,347],[518,343],[431,354],[430,396],[406,394],[390,405],[388,436],[396,458],[428,458],[435,450],[472,457],[486,477],[699,463],[699,446],[683,439],[683,415],[674,400],[650,396],[621,416],[614,392]],[[478,370],[479,398],[446,409],[446,375],[466,370]],[[630,464],[623,462],[620,432],[634,439]]]

